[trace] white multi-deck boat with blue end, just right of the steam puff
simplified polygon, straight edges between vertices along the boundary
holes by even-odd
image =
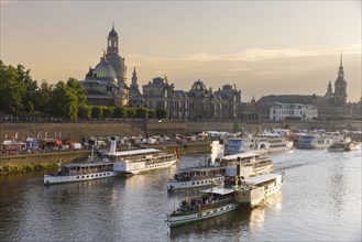
[[[279,134],[261,134],[254,138],[228,139],[224,146],[228,155],[243,152],[273,153],[290,150],[293,141]]]

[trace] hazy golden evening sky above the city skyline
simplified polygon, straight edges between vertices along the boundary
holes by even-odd
[[[167,76],[253,96],[323,96],[343,53],[348,101],[361,88],[361,1],[18,1],[0,3],[0,58],[33,79],[85,79],[112,23],[128,84]]]

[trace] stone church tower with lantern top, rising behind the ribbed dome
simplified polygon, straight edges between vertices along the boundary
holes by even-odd
[[[112,24],[112,30],[108,34],[107,38],[107,55],[106,61],[109,63],[114,72],[118,79],[119,87],[127,87],[127,66],[124,58],[119,55],[118,45],[118,33],[114,30],[114,23]]]

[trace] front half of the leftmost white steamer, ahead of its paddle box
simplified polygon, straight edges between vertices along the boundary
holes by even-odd
[[[110,162],[59,164],[59,168],[55,173],[44,175],[44,184],[99,179],[117,175],[119,173],[113,172],[113,163]]]

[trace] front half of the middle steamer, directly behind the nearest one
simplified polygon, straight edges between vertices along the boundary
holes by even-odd
[[[175,176],[168,180],[167,190],[198,188],[223,183],[226,167],[200,166],[179,169]]]

